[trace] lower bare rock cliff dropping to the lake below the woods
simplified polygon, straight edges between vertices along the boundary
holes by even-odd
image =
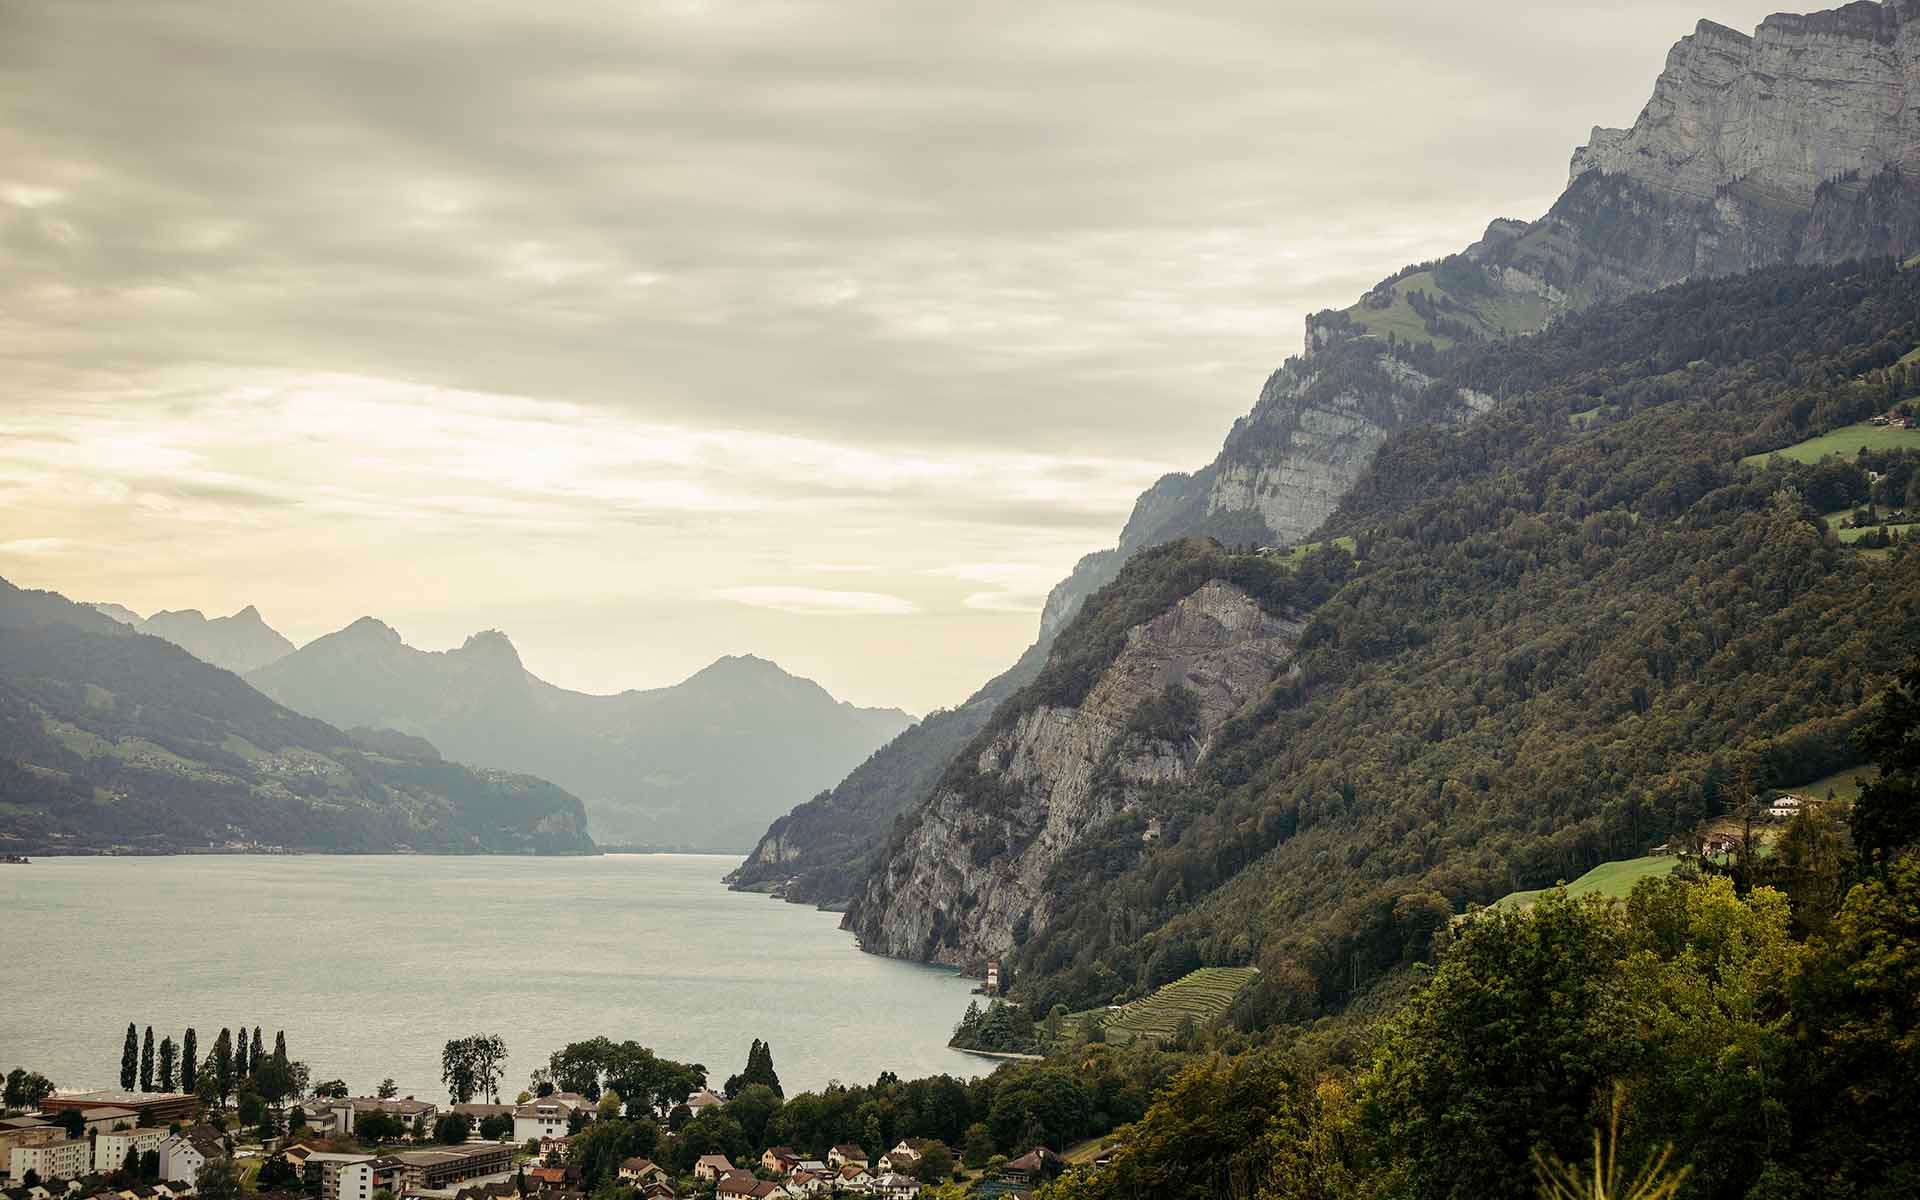
[[[1023,707],[964,751],[847,925],[870,950],[962,966],[1044,929],[1060,860],[1185,780],[1298,634],[1219,580],[1131,628],[1077,705]]]

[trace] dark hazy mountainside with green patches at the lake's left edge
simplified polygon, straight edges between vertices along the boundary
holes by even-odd
[[[578,799],[430,751],[367,745],[169,641],[0,580],[12,852],[593,851]]]

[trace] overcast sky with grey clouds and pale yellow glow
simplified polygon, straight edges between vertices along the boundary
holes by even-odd
[[[954,705],[1772,6],[0,0],[0,576]]]

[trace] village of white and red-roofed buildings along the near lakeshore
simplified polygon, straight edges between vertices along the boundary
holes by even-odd
[[[701,1089],[685,1110],[726,1098]],[[286,1137],[248,1137],[234,1114],[190,1092],[48,1094],[35,1112],[0,1117],[4,1200],[916,1200],[960,1179],[952,1152],[902,1139],[768,1146],[732,1162],[701,1154],[685,1171],[630,1156],[593,1179],[576,1154],[601,1104],[578,1092],[522,1094],[515,1104],[436,1104],[411,1096],[321,1096],[298,1106]],[[482,1131],[492,1137],[470,1137]],[[1029,1200],[1064,1169],[1044,1146],[993,1160],[972,1181],[981,1200]]]

